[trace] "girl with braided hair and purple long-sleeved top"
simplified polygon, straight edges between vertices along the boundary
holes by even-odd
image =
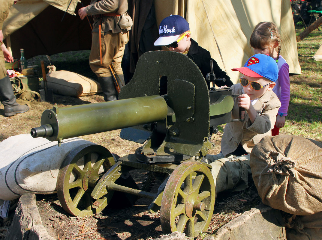
[[[279,68],[279,77],[273,92],[278,96],[281,102],[278,114],[276,115],[276,123],[272,129],[272,136],[279,135],[279,128],[285,125],[285,116],[289,108],[290,84],[289,84],[289,65],[285,59],[280,56],[281,38],[277,26],[273,22],[258,23],[249,41],[250,46],[254,49],[254,53],[269,55],[274,58]]]

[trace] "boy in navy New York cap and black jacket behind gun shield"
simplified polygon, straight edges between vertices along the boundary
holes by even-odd
[[[155,46],[165,46],[170,51],[185,54],[188,58],[194,61],[199,67],[201,73],[206,79],[207,73],[211,72],[210,60],[213,61],[213,72],[216,78],[225,78],[226,81],[216,83],[220,86],[232,86],[230,77],[218,66],[217,62],[210,56],[210,52],[203,49],[196,41],[191,38],[189,23],[179,15],[170,15],[162,20],[159,26],[159,38],[155,41]],[[160,95],[162,95],[162,80],[160,81]],[[210,82],[206,79],[208,89]],[[166,90],[164,91],[166,92]],[[164,93],[163,93],[164,94]]]

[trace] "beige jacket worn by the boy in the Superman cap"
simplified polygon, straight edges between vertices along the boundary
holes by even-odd
[[[244,93],[241,84],[234,84],[231,89],[232,94]],[[251,153],[251,149],[264,136],[271,136],[271,129],[274,128],[276,114],[280,106],[281,104],[276,94],[273,91],[266,91],[254,104],[258,115],[253,123],[249,120],[247,112],[245,113],[245,120],[243,122],[236,121],[227,123],[221,140],[221,151],[223,155],[226,157],[235,151],[239,144],[242,145],[247,153]],[[232,119],[238,118],[239,107],[237,105],[237,98],[235,98]]]

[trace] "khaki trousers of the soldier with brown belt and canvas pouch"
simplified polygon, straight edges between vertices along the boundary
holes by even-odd
[[[109,77],[109,65],[114,64],[118,75],[123,75],[121,61],[124,54],[125,44],[129,40],[129,33],[102,32],[102,64],[99,53],[99,33],[92,32],[92,48],[90,51],[90,68],[98,77]]]

